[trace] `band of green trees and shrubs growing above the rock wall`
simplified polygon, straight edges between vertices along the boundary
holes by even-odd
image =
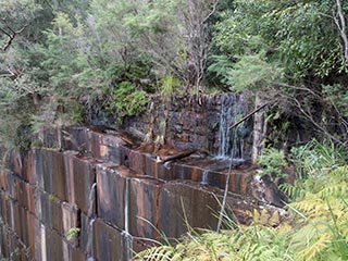
[[[300,115],[345,144],[347,12],[339,0],[0,1],[0,141],[23,147],[20,133],[99,110],[120,124],[151,95],[245,91],[272,104],[278,132]]]

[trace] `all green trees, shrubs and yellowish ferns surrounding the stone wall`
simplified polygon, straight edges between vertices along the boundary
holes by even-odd
[[[151,95],[245,91],[271,104],[270,145],[294,116],[319,139],[290,153],[293,215],[145,254],[347,260],[347,15],[343,0],[0,0],[0,144],[27,148],[40,126],[100,111],[121,124]],[[263,175],[277,183],[286,162],[266,152]]]

